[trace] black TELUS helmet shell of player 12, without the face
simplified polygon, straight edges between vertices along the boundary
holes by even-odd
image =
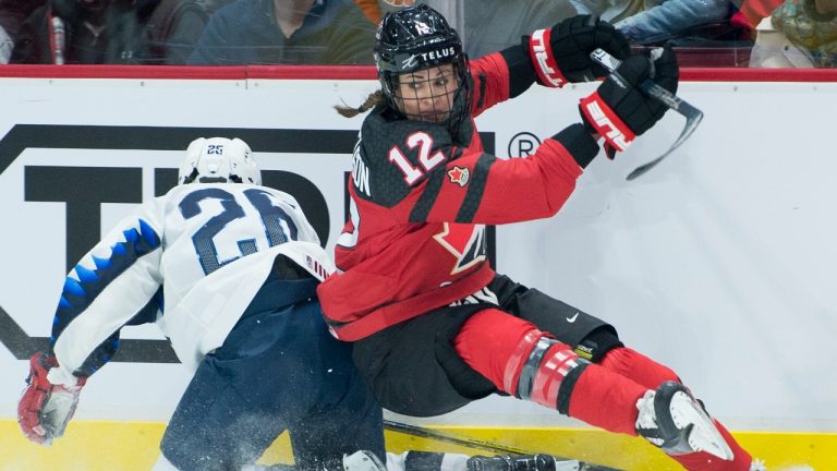
[[[435,65],[453,64],[459,82],[448,125],[457,131],[470,117],[471,73],[462,40],[439,12],[425,5],[401,9],[384,16],[375,36],[375,64],[388,105],[403,113],[398,96],[399,75]]]

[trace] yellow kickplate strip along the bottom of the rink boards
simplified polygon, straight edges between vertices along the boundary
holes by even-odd
[[[49,448],[27,442],[12,420],[0,421],[0,471],[84,470],[147,471],[159,456],[159,440],[166,425],[161,422],[75,421],[66,435]],[[521,427],[434,427],[457,436],[475,437],[497,444],[571,457],[626,471],[676,471],[659,450],[642,439],[590,428]],[[387,450],[427,450],[492,455],[489,451],[386,432]],[[764,459],[771,471],[837,469],[837,434],[737,432],[739,443]],[[291,463],[288,434],[281,435],[265,452],[259,463]],[[804,464],[802,464],[804,463]]]

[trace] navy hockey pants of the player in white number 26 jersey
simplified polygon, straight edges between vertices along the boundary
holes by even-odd
[[[288,430],[300,469],[384,450],[381,408],[332,338],[316,280],[271,275],[223,346],[201,363],[160,448],[182,470],[239,470]]]

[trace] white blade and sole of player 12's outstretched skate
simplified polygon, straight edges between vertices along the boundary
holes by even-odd
[[[687,402],[676,407],[676,401]],[[671,399],[671,419],[678,428],[683,430],[692,425],[689,432],[689,446],[695,451],[704,451],[723,460],[731,461],[735,458],[732,449],[720,435],[706,412],[686,392],[676,392]]]

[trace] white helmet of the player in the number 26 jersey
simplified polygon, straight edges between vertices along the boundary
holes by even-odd
[[[262,184],[262,171],[242,140],[198,137],[189,145],[178,172],[178,184],[252,183]]]

